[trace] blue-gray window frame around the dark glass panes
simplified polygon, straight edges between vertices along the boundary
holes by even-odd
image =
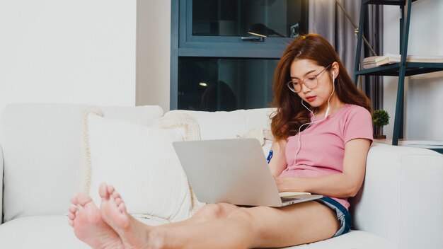
[[[307,11],[307,2],[304,6]],[[263,37],[263,41],[245,41],[240,36],[192,35],[192,0],[171,0],[170,109],[178,108],[179,57],[280,59],[292,40],[292,37]]]

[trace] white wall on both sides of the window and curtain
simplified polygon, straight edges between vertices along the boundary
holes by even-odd
[[[415,1],[412,11],[409,54],[443,55],[443,1]],[[384,14],[384,51],[398,53],[398,7]],[[171,1],[0,0],[0,109],[62,102],[168,110],[170,42]],[[409,78],[406,136],[443,140],[443,73]],[[397,81],[384,80],[389,137]]]

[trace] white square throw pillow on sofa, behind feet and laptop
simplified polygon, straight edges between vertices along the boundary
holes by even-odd
[[[172,142],[183,140],[173,129],[133,125],[88,115],[86,137],[89,194],[100,204],[98,187],[106,182],[122,195],[130,214],[169,221],[188,219],[192,204],[188,180]]]

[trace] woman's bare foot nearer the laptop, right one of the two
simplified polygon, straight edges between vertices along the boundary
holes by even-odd
[[[127,213],[125,203],[113,186],[102,183],[100,185],[100,196],[101,217],[118,233],[125,249],[161,248],[158,243],[153,245],[153,241],[149,241],[152,227],[142,224]]]

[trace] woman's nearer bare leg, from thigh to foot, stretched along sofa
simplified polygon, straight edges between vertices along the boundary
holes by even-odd
[[[335,214],[318,202],[282,208],[234,208],[226,216],[184,222],[177,226],[146,226],[128,215],[120,195],[100,190],[100,212],[125,248],[257,248],[321,241],[338,230]]]

